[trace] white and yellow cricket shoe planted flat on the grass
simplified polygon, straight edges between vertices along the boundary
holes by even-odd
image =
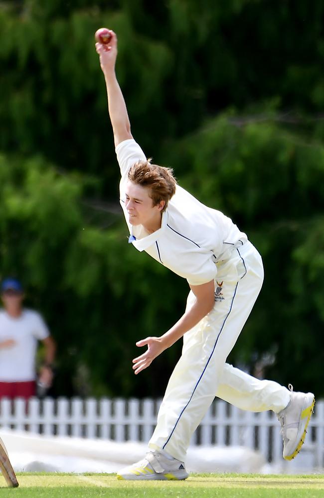
[[[169,460],[159,451],[149,451],[143,460],[117,473],[117,479],[127,481],[181,481],[187,477],[183,462]]]

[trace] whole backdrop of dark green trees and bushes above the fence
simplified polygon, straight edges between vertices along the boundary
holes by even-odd
[[[230,360],[253,372],[273,353],[267,375],[324,393],[323,13],[303,0],[0,1],[0,274],[20,276],[50,324],[57,394],[159,396],[181,347],[132,374],[136,340],[174,323],[187,285],[127,244],[103,25],[147,155],[263,255]]]

